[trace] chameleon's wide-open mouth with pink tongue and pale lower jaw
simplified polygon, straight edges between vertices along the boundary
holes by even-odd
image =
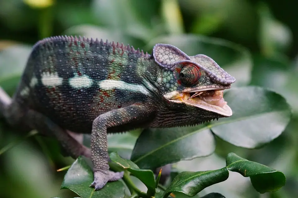
[[[224,89],[213,88],[197,92],[183,92],[172,99],[221,114],[225,117],[232,115],[231,108],[224,101]]]

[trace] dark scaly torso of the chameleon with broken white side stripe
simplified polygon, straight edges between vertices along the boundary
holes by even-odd
[[[47,38],[34,45],[15,98],[65,129],[90,132],[98,115],[150,97],[137,67],[149,58],[114,42]]]

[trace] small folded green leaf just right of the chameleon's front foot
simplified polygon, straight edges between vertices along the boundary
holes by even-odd
[[[116,152],[110,153],[110,158],[112,161],[131,172],[136,178],[140,179],[146,185],[148,191],[155,192],[155,179],[152,170],[139,169],[135,163],[121,158]]]

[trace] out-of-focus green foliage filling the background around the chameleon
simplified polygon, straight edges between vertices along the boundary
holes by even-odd
[[[148,53],[155,43],[168,42],[188,55],[206,52],[219,57],[219,62],[214,59],[220,66],[236,58],[239,61],[228,67],[237,79],[235,86],[264,86],[282,94],[293,109],[291,123],[264,148],[243,149],[217,138],[213,155],[178,166],[210,170],[217,168],[210,164],[223,164],[227,153],[234,152],[281,170],[286,186],[260,195],[248,178],[231,173],[205,193],[220,192],[227,198],[298,197],[297,7],[296,0],[0,0],[0,84],[12,94],[32,45],[55,35],[114,40]],[[20,139],[0,124],[0,148]],[[26,139],[0,156],[0,197],[74,197],[60,190],[65,172],[56,172],[72,162],[62,157],[55,140]]]

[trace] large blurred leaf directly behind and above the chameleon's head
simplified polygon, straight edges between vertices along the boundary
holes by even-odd
[[[156,43],[167,43],[181,49],[189,56],[205,54],[236,78],[232,87],[247,85],[251,79],[252,61],[249,51],[223,39],[194,34],[157,37],[149,42],[146,50],[152,51]]]

